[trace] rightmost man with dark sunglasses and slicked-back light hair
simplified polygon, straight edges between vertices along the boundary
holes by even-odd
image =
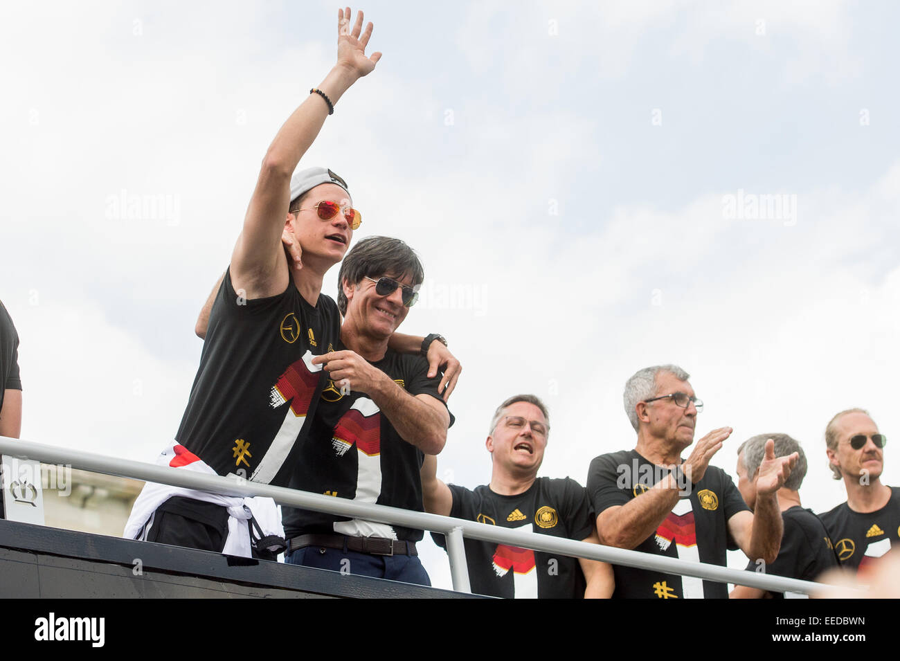
[[[881,483],[887,437],[869,412],[850,408],[825,427],[825,453],[847,502],[820,514],[842,567],[864,575],[892,547],[900,547],[900,488]]]

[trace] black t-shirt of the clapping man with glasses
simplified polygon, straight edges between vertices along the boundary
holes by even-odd
[[[602,513],[614,505],[626,505],[640,497],[668,471],[644,459],[637,451],[611,452],[590,462],[588,493],[594,510]],[[727,549],[735,549],[728,534],[728,520],[749,511],[732,479],[722,469],[707,468],[689,496],[680,497],[656,532],[635,550],[653,555],[726,564]],[[663,574],[649,569],[613,566],[616,576],[614,598],[672,599],[728,597],[724,583],[704,581],[694,576]]]

